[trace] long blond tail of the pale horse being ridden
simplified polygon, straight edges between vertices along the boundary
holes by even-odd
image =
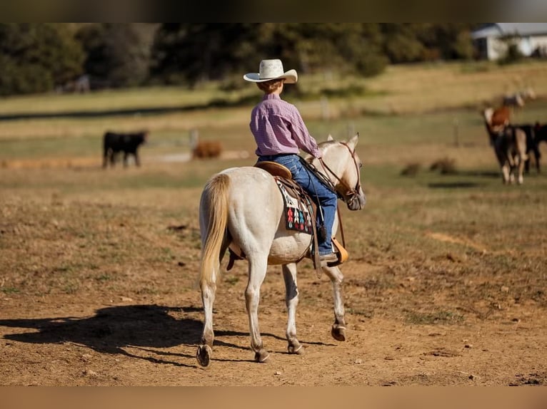
[[[213,177],[201,194],[201,212],[207,212],[206,226],[201,226],[201,266],[200,284],[209,285],[216,281],[220,260],[222,259],[222,244],[226,238],[228,224],[228,175],[220,174]]]

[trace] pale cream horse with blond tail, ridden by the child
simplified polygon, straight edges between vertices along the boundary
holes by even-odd
[[[358,134],[350,140],[338,142],[329,135],[318,144],[321,159],[311,156],[306,161],[331,181],[350,210],[362,209],[366,197],[361,188],[361,160],[356,153]],[[313,217],[313,216],[312,216]],[[305,232],[286,229],[283,216],[283,197],[274,177],[259,167],[231,167],[217,173],[204,187],[199,205],[201,232],[200,288],[204,306],[204,327],[196,358],[201,366],[209,366],[214,342],[213,304],[220,263],[226,249],[242,255],[248,262],[248,281],[245,290],[249,318],[251,349],[254,360],[264,362],[269,352],[264,348],[259,330],[258,308],[260,287],[269,265],[281,265],[286,289],[288,321],[286,339],[288,353],[303,353],[296,338],[296,264],[311,258],[313,237]],[[333,236],[338,221],[333,226]],[[343,274],[338,266],[318,266],[333,287],[335,321],[331,335],[346,341],[341,284]]]

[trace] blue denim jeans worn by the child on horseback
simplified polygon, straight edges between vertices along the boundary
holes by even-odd
[[[322,209],[323,217],[320,212],[317,212],[317,226],[323,226],[326,229],[326,239],[321,242],[319,239],[319,255],[330,254],[332,249],[332,225],[334,223],[334,217],[336,216],[336,205],[338,205],[338,197],[336,193],[332,192],[326,187],[321,180],[308,172],[306,167],[300,162],[300,156],[294,155],[264,155],[259,156],[259,162],[264,160],[271,160],[283,165],[291,171],[293,180],[310,195],[311,200],[320,206]]]

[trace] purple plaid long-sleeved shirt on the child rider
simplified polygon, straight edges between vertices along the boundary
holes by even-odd
[[[251,113],[251,132],[256,140],[256,155],[296,153],[300,150],[314,157],[321,153],[308,132],[296,106],[279,95],[266,94]]]

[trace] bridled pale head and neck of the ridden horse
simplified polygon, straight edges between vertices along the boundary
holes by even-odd
[[[350,210],[360,210],[366,203],[361,187],[362,163],[355,150],[358,136],[348,142],[338,142],[328,135],[327,141],[319,145],[321,160],[313,160],[313,165],[331,180]]]

